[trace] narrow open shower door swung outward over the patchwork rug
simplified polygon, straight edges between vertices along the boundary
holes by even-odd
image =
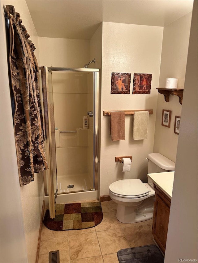
[[[56,145],[55,145],[55,125],[54,125],[54,101],[52,72],[47,67],[40,67],[42,92],[41,100],[42,112],[44,113],[44,134],[45,134],[45,151],[48,162],[48,170],[44,171],[45,195],[49,195],[49,215],[55,217],[55,203],[57,196],[57,171],[56,171]],[[47,192],[47,193],[46,193]]]

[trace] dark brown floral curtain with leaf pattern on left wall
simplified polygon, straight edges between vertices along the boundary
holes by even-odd
[[[11,96],[15,101],[14,130],[20,186],[34,181],[34,173],[48,169],[39,95],[39,67],[20,14],[6,5],[9,18]]]

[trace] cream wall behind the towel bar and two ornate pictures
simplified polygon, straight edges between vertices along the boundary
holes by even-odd
[[[101,172],[100,195],[109,194],[109,185],[119,179],[146,180],[146,157],[153,152],[157,90],[160,73],[163,27],[103,22],[101,85]],[[110,94],[111,73],[131,73],[130,94]],[[133,74],[152,73],[151,94],[132,94]],[[153,109],[149,115],[148,138],[133,140],[133,116],[125,117],[125,140],[112,142],[110,117],[104,110]],[[132,155],[130,172],[115,162],[115,156]]]

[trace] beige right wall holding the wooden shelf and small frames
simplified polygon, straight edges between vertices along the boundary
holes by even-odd
[[[177,78],[178,88],[184,88],[191,13],[164,27],[161,52],[159,87],[165,88],[166,78]],[[170,128],[161,125],[162,109],[171,110]],[[153,152],[159,152],[175,162],[178,135],[174,134],[175,116],[181,116],[179,97],[171,96],[169,102],[158,94]]]

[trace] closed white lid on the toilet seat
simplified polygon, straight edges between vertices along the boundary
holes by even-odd
[[[110,184],[109,189],[114,194],[131,197],[149,193],[149,189],[140,181],[140,179],[119,180]]]

